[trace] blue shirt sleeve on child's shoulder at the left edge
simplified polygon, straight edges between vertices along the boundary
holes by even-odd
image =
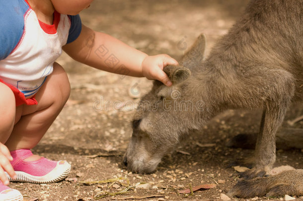
[[[28,5],[23,0],[3,0],[0,6],[0,60],[18,45],[24,30],[24,13]]]

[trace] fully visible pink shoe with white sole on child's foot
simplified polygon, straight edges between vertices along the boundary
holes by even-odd
[[[29,149],[18,149],[10,152],[13,160],[10,162],[16,179],[6,174],[9,181],[29,182],[36,184],[53,183],[63,180],[71,171],[71,165],[66,161],[53,161],[41,157],[38,160],[25,160],[33,156]]]

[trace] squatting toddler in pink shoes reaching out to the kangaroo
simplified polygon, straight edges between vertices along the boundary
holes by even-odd
[[[115,73],[145,76],[165,85],[162,70],[177,65],[167,55],[148,56],[81,24],[78,13],[92,0],[4,0],[0,6],[0,200],[21,201],[9,181],[50,183],[69,174],[66,161],[33,155],[70,94],[56,59],[62,50],[76,61]],[[115,59],[119,66],[111,65]],[[121,64],[121,65],[120,65]]]

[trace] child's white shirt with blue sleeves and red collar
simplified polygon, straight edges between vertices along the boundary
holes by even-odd
[[[79,15],[55,11],[53,25],[38,20],[27,0],[2,0],[0,5],[0,79],[25,98],[42,86],[62,46],[81,32]]]

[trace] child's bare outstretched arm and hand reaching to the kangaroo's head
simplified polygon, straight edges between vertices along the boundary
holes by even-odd
[[[178,63],[168,55],[148,56],[118,39],[82,25],[79,37],[63,47],[73,59],[91,67],[130,76],[157,79],[170,86],[163,67]]]

